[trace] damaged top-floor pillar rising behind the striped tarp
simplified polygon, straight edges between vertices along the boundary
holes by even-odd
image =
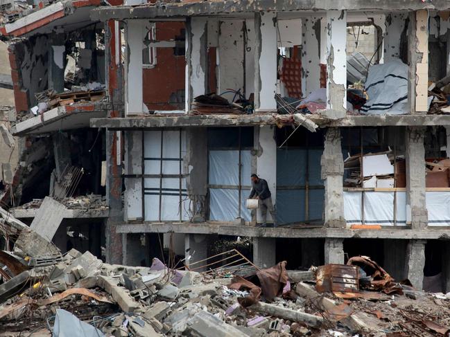
[[[404,30],[406,15],[391,13],[386,15],[386,33],[383,39],[384,63],[400,58],[400,38]]]

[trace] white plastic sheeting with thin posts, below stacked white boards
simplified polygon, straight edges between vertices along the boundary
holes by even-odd
[[[362,224],[362,193],[344,192],[344,217],[347,224]],[[393,226],[394,198],[397,199],[397,226],[406,225],[406,192],[372,191],[364,192],[364,224]]]

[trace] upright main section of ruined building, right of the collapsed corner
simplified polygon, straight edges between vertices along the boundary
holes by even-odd
[[[91,119],[106,132],[108,259],[148,264],[172,237],[194,261],[218,237],[251,237],[258,266],[369,255],[449,289],[448,3],[325,3],[91,12],[110,29],[114,109]],[[252,173],[277,228],[245,208]]]

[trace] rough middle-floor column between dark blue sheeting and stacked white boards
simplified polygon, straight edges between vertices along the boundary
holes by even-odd
[[[327,129],[320,163],[325,186],[324,224],[328,227],[345,227],[344,159],[340,145],[340,129],[337,127]]]

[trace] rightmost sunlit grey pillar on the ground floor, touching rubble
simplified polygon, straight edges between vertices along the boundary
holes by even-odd
[[[418,290],[424,284],[425,244],[426,240],[409,240],[406,248],[406,275]]]

